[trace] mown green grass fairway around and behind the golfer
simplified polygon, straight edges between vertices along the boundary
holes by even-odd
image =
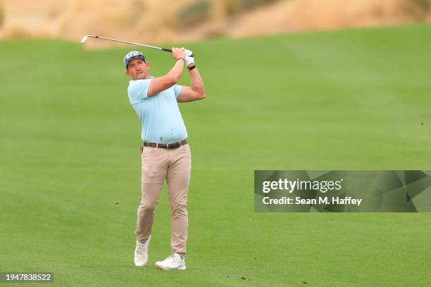
[[[132,261],[140,124],[123,57],[136,48],[0,42],[0,272],[54,272],[50,286],[430,286],[430,213],[254,213],[253,189],[254,170],[430,170],[430,35],[177,44],[207,92],[180,105],[193,158],[186,272],[154,266],[170,254],[165,190],[149,264]],[[153,75],[173,65],[142,51]]]

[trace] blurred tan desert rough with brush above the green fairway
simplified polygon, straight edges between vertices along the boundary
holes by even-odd
[[[431,0],[3,0],[0,37],[196,41],[430,23],[430,7]]]

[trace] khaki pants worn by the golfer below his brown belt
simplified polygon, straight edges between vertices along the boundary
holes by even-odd
[[[192,156],[188,144],[175,149],[141,149],[142,198],[137,210],[136,236],[144,243],[151,234],[154,213],[163,182],[168,181],[172,253],[186,253],[188,218],[187,189],[189,188]]]

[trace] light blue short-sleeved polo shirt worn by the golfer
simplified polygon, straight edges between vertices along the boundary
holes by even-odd
[[[151,79],[132,80],[127,89],[130,104],[142,124],[142,141],[168,144],[187,138],[187,129],[177,103],[182,86],[175,84],[149,97],[147,93]]]

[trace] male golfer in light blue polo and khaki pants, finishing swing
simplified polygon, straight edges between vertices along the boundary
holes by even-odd
[[[187,130],[177,102],[205,98],[204,82],[194,65],[192,51],[172,49],[173,68],[161,77],[152,77],[150,63],[138,51],[124,58],[126,75],[130,77],[127,93],[130,104],[142,123],[141,163],[142,198],[137,210],[135,265],[142,267],[148,261],[148,248],[154,213],[163,182],[168,181],[172,254],[156,262],[164,270],[185,270],[187,242],[187,189],[192,158],[187,144]],[[190,87],[177,84],[184,65],[189,70]]]

